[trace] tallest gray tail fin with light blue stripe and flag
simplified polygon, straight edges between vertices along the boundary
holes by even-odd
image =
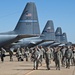
[[[26,4],[14,32],[17,34],[40,34],[37,10],[33,2]]]

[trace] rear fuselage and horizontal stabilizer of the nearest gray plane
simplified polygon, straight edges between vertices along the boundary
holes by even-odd
[[[2,43],[0,43],[0,46],[3,46],[3,47],[10,47],[11,46],[11,43],[14,43],[14,42],[17,42],[18,40],[20,39],[23,39],[23,38],[28,38],[28,37],[36,37],[38,35],[2,35],[2,40],[4,38],[4,42],[2,41]],[[0,39],[0,40],[1,40]]]

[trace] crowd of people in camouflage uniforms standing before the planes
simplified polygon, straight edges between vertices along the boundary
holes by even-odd
[[[13,48],[10,48],[9,55],[10,61],[13,61]],[[1,48],[1,61],[4,61],[5,49]],[[60,70],[62,67],[70,68],[72,64],[75,66],[75,47],[73,46],[63,46],[63,47],[35,47],[35,48],[18,48],[16,50],[16,57],[18,61],[28,61],[28,58],[31,58],[33,61],[34,70],[38,69],[39,63],[42,66],[42,61],[45,59],[46,67],[50,70],[51,60],[55,62],[56,70]]]

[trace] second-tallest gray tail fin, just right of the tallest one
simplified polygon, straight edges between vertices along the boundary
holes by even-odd
[[[44,30],[42,32],[42,36],[40,38],[44,40],[50,40],[50,41],[55,40],[54,24],[52,20],[47,21]]]

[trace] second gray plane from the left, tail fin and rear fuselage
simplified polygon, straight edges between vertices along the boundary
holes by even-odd
[[[15,44],[15,46],[20,45],[20,46],[34,47],[46,41],[50,41],[51,43],[53,43],[54,40],[55,40],[55,33],[54,33],[53,21],[48,20],[40,37],[23,39],[21,42]]]

